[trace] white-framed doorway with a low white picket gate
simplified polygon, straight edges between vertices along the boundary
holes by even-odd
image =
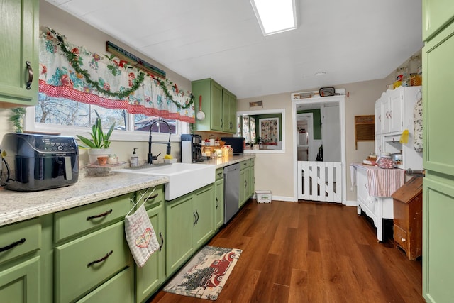
[[[314,97],[292,102],[296,200],[311,199],[345,204],[345,90],[343,92],[344,94],[338,96]],[[301,122],[298,115],[301,111],[315,110],[321,112],[321,140],[317,142],[318,139],[313,139],[311,146],[308,147],[307,160],[303,160],[301,147],[298,150],[298,143],[301,143],[298,128]],[[301,120],[304,120],[304,117],[301,117]],[[325,123],[324,127],[323,123]],[[316,150],[320,150],[320,147],[323,152],[323,161],[315,161]],[[314,151],[313,158],[309,156],[310,150]]]

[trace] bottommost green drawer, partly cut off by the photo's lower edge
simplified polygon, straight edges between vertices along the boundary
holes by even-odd
[[[78,303],[113,303],[121,302],[128,303],[134,302],[134,291],[131,281],[131,268],[126,268],[109,281],[105,282],[100,287],[96,288],[93,292],[87,294]]]

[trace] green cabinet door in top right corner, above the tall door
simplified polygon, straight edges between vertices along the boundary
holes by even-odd
[[[431,39],[453,19],[453,0],[423,0],[423,41]]]

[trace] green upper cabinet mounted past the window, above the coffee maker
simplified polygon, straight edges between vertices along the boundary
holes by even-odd
[[[192,94],[196,100],[196,113],[199,112],[201,104],[201,111],[205,114],[204,120],[196,120],[196,131],[236,133],[235,95],[213,79],[193,81]]]

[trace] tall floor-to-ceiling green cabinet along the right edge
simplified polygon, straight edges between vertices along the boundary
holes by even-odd
[[[454,298],[454,1],[423,0],[423,40],[423,297],[443,303]]]

